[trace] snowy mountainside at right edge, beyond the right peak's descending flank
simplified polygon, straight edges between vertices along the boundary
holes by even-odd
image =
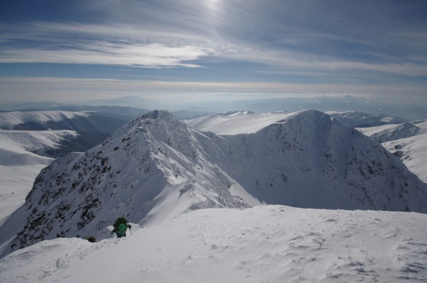
[[[380,142],[427,183],[427,121],[358,128],[358,130]]]

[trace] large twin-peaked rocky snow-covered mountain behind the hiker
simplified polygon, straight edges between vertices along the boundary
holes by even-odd
[[[318,111],[226,136],[154,111],[43,169],[25,205],[1,227],[1,243],[12,239],[7,253],[95,234],[118,215],[147,226],[198,208],[262,203],[427,212],[426,192],[381,145]]]

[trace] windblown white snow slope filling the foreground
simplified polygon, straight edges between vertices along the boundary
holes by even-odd
[[[201,209],[89,243],[43,241],[0,282],[425,282],[427,215],[256,206]]]

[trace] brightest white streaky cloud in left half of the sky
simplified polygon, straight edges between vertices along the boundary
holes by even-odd
[[[210,48],[169,47],[158,43],[130,44],[90,42],[61,49],[6,49],[0,51],[0,63],[71,63],[125,65],[134,67],[201,67],[188,63],[213,55]]]

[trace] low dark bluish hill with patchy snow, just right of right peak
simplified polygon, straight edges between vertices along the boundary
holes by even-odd
[[[328,111],[326,114],[337,118],[341,122],[351,127],[374,127],[386,124],[401,124],[407,122],[407,120],[402,117],[391,117],[384,114],[368,114],[359,111]]]

